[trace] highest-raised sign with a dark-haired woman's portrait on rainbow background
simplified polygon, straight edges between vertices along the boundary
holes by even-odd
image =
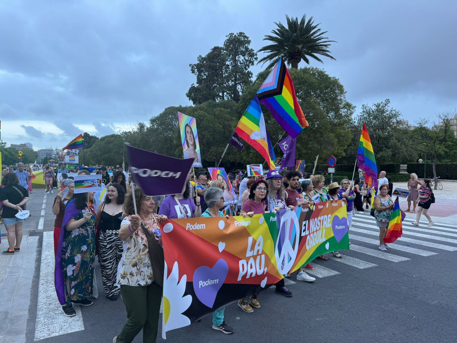
[[[193,158],[194,167],[202,166],[200,144],[198,143],[197,123],[195,118],[178,112],[179,129],[181,132],[182,150],[184,158]]]

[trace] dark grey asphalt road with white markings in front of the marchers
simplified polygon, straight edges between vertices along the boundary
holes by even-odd
[[[56,313],[55,309],[59,308],[55,292],[49,293],[54,297],[40,297],[45,288],[53,290],[53,283],[49,281],[53,279],[45,275],[48,273],[42,273],[48,267],[53,270],[53,265],[42,265],[42,261],[49,264],[49,259],[42,257],[49,252],[49,237],[52,234],[46,232],[53,231],[51,207],[56,193],[47,196],[43,216],[40,214],[44,190],[34,192],[27,205],[32,218],[27,220],[24,231],[30,231],[31,236],[39,236],[27,342],[112,342],[126,321],[126,311],[120,297],[112,302],[104,296],[98,261],[96,273],[100,296],[94,300],[94,305],[82,307],[81,315],[73,318],[48,316],[46,311],[43,314],[43,308],[51,307]],[[38,230],[42,217],[43,230]],[[313,283],[296,281],[295,275],[292,275],[290,281],[294,283],[287,285],[293,293],[291,298],[267,289],[260,294],[262,307],[255,309],[254,313],[244,313],[236,304],[225,308],[225,320],[234,327],[233,334],[224,335],[213,330],[212,317],[207,316],[190,327],[168,332],[167,341],[456,342],[457,278],[454,259],[457,257],[457,226],[436,224],[427,228],[422,225],[422,229],[435,231],[426,232],[404,223],[404,230],[411,234],[404,234],[403,237],[409,241],[397,241],[398,249],[381,252],[370,241],[377,240],[377,230],[369,226],[374,225],[372,218],[360,214],[354,217],[354,230],[350,231],[354,235],[351,237],[351,250],[341,251],[345,257],[339,261],[315,261],[314,273],[321,277]],[[45,250],[42,251],[43,242]],[[378,252],[384,257],[390,255],[394,261],[373,256],[379,255]],[[53,334],[49,333],[48,326],[61,329]],[[72,327],[81,330],[69,332]],[[159,325],[157,341],[163,341],[160,330]],[[47,335],[53,336],[40,339]],[[142,342],[141,333],[134,342]]]

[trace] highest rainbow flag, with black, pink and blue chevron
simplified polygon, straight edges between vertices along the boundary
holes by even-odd
[[[303,128],[308,126],[295,95],[292,77],[282,58],[260,86],[257,96],[292,138],[297,137]]]

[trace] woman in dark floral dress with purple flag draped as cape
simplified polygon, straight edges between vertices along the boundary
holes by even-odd
[[[87,204],[94,192],[74,194],[65,209],[56,255],[56,291],[64,316],[76,315],[72,305],[90,306],[95,265],[94,210]],[[60,267],[61,273],[58,273]],[[64,286],[65,282],[65,286]]]

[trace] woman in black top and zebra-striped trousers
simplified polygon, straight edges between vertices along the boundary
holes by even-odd
[[[112,183],[107,190],[106,199],[98,205],[97,223],[100,223],[98,237],[98,262],[105,295],[116,301],[119,288],[116,285],[117,265],[122,257],[122,240],[119,229],[122,222],[122,205],[125,191],[118,183]]]

